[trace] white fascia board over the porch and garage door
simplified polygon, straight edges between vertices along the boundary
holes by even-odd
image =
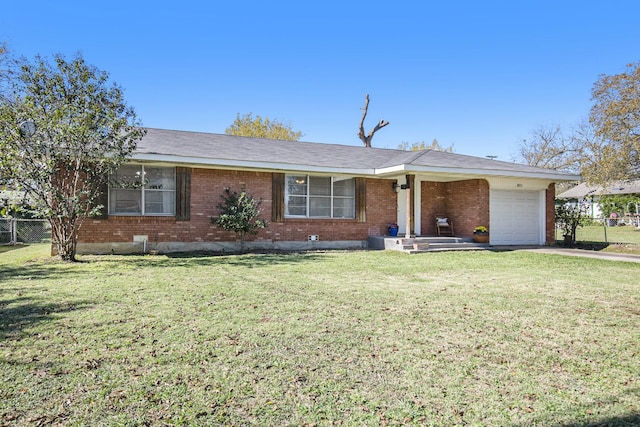
[[[448,176],[465,176],[468,178],[484,177],[484,176],[508,176],[514,178],[535,178],[546,179],[551,181],[580,181],[580,175],[564,174],[564,173],[536,173],[536,172],[519,172],[508,170],[487,170],[487,169],[461,169],[461,168],[443,168],[431,166],[410,166],[398,165],[388,168],[376,169],[376,175],[392,175],[398,173],[426,173],[426,174],[442,174]]]

